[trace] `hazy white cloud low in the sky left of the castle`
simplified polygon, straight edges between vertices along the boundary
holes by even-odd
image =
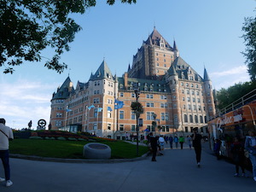
[[[49,123],[50,99],[55,84],[21,79],[12,83],[2,81],[0,86],[0,116],[7,120],[7,125],[21,129],[32,119],[32,127],[36,129],[38,119]]]

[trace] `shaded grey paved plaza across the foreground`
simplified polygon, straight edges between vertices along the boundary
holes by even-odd
[[[168,145],[166,145],[168,147]],[[169,149],[152,162],[63,163],[10,159],[14,185],[5,192],[241,192],[255,191],[250,177],[233,177],[235,166],[216,160],[204,146],[201,168],[195,164],[195,151]],[[3,177],[3,168],[0,169]]]

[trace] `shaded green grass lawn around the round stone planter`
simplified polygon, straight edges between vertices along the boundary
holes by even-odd
[[[36,155],[67,159],[83,159],[84,141],[60,141],[41,139],[15,139],[9,143],[11,154]],[[137,146],[122,141],[104,141],[111,148],[111,159],[137,157]],[[139,146],[139,156],[148,152],[148,147]]]

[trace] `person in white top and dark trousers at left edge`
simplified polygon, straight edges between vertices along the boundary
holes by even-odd
[[[13,131],[9,126],[5,126],[5,119],[0,119],[0,158],[3,162],[4,178],[0,177],[0,182],[6,181],[6,187],[13,183],[10,180],[9,168],[9,140],[14,139]]]

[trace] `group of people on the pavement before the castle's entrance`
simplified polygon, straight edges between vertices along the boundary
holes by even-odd
[[[180,143],[180,147],[181,149],[183,149],[183,143],[184,143],[184,137],[167,137],[170,143],[170,147],[172,148],[172,143],[174,142],[176,144],[176,148],[177,148],[177,144]],[[192,143],[193,143],[193,147],[195,148],[195,158],[196,158],[196,163],[197,166],[200,167],[200,163],[201,163],[201,134],[197,133],[197,129],[194,128],[193,129],[193,134],[191,135],[191,137],[187,137],[187,142],[189,144],[189,148],[192,147]],[[148,137],[148,142],[150,143],[150,147],[152,149],[152,161],[156,161],[155,157],[157,152],[159,151],[160,155],[163,155],[161,153],[162,150],[164,150],[164,143],[167,141],[166,137],[160,136],[154,136],[152,132],[149,133],[149,137]]]

